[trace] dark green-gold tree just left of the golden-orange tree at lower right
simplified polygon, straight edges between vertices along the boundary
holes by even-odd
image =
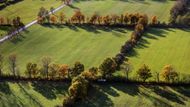
[[[137,75],[140,79],[145,82],[148,78],[152,77],[152,73],[150,68],[147,65],[143,65],[139,70],[137,71]]]

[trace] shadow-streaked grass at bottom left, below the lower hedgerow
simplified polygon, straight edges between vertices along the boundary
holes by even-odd
[[[67,83],[0,82],[1,107],[55,107],[66,95]]]

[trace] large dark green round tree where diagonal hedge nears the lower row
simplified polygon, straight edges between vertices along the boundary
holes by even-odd
[[[117,64],[112,58],[107,58],[100,65],[99,69],[102,73],[103,78],[111,77],[116,71]]]

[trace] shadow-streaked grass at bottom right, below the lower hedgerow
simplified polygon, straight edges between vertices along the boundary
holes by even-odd
[[[182,107],[190,106],[190,87],[102,84],[93,88],[81,107]]]

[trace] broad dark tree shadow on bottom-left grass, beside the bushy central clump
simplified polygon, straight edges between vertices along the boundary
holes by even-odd
[[[47,99],[56,99],[57,94],[66,94],[69,87],[68,83],[48,83],[48,82],[33,82],[34,90],[42,94]]]

